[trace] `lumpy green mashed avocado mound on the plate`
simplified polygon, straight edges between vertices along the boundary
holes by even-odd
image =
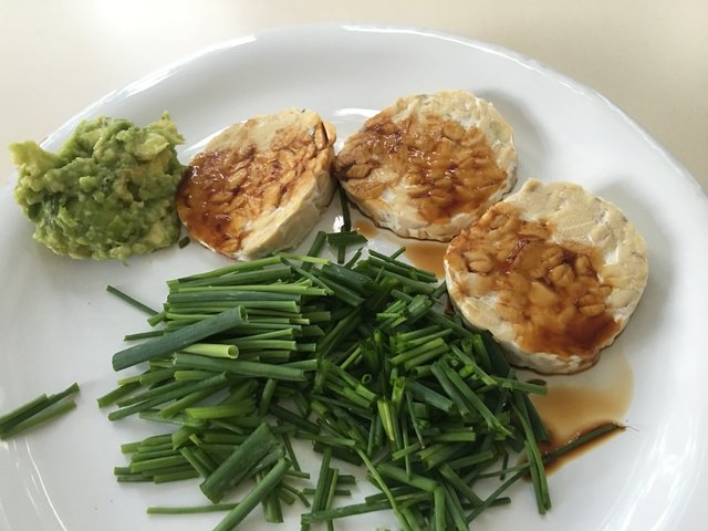
[[[82,122],[59,153],[12,144],[14,197],[34,239],[58,254],[123,260],[179,238],[175,192],[184,142],[169,115],[146,127],[127,119]]]

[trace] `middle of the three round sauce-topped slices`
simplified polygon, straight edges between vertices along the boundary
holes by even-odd
[[[378,226],[447,241],[516,183],[511,126],[465,91],[399,98],[337,154],[334,174]]]

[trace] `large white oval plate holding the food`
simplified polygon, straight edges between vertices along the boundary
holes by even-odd
[[[340,138],[396,97],[467,88],[493,101],[514,128],[519,176],[574,180],[618,205],[649,246],[650,280],[612,351],[634,374],[631,429],[550,478],[554,507],[535,513],[530,488],[475,529],[697,530],[708,522],[708,201],[698,184],[595,92],[507,50],[415,29],[317,25],[228,42],[140,80],[75,116],[45,142],[58,148],[77,122],[105,114],[140,124],[164,110],[187,138],[183,159],[232,122],[310,107]],[[164,281],[223,263],[198,246],[127,264],[80,262],[32,241],[30,223],[0,194],[0,410],[77,381],[79,407],[46,429],[0,444],[0,528],[88,531],[209,529],[218,516],[147,517],[148,504],[200,503],[196,483],[117,485],[118,445],[148,433],[108,423],[95,398],[111,389],[111,355],[143,316],[107,283],[159,304]],[[331,220],[324,221],[330,222]],[[158,428],[159,429],[159,428]],[[257,511],[258,512],[258,511]],[[289,514],[295,529],[296,511]],[[249,520],[248,529],[278,529]],[[342,529],[395,528],[386,513]]]

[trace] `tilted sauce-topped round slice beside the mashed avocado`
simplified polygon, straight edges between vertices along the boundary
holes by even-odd
[[[177,211],[216,252],[249,259],[298,244],[335,189],[334,127],[285,110],[232,125],[189,163]]]

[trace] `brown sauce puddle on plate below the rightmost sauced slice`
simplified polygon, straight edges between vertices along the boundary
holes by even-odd
[[[634,376],[629,363],[618,348],[603,353],[594,367],[576,375],[539,377],[538,374],[519,372],[519,376],[525,376],[523,379],[529,381],[543,379],[548,385],[546,395],[529,395],[551,434],[550,445],[543,448],[545,451],[571,442],[604,424],[625,426],[625,415],[634,394]],[[612,430],[580,446],[555,460],[546,470],[556,470],[564,462],[606,440],[610,435],[621,431]]]

